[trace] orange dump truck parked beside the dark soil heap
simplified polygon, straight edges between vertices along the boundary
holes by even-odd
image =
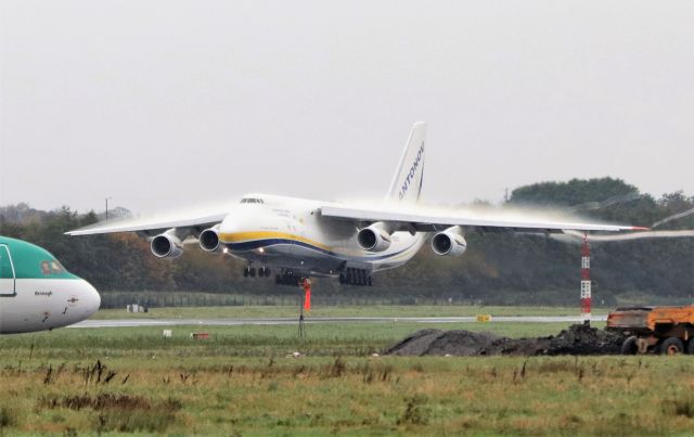
[[[694,355],[694,306],[617,308],[607,316],[607,329],[628,335],[624,355]]]

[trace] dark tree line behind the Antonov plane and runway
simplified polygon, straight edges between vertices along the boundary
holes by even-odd
[[[520,187],[498,206],[563,209],[586,218],[652,226],[694,208],[682,192],[655,198],[613,178],[542,182]],[[248,279],[243,261],[188,246],[183,256],[158,259],[146,240],[132,233],[70,237],[65,231],[99,221],[95,211],[65,206],[43,211],[26,204],[0,207],[0,234],[46,247],[100,292],[185,292],[253,295],[297,293],[272,279]],[[694,215],[658,229],[694,229]],[[503,232],[466,234],[460,258],[439,257],[425,246],[406,266],[374,275],[373,287],[314,281],[325,296],[410,296],[486,304],[576,303],[580,250],[549,236]],[[694,296],[694,239],[637,240],[592,245],[594,298],[616,303],[683,301]],[[414,301],[414,300],[413,300]]]

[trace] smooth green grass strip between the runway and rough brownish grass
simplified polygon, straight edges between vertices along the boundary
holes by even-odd
[[[305,325],[298,337],[294,325],[157,326],[157,327],[68,327],[0,337],[0,363],[39,360],[69,360],[103,357],[272,357],[300,351],[310,357],[369,356],[422,329],[490,331],[510,337],[556,334],[567,323],[320,323]],[[172,330],[164,338],[163,329]],[[210,338],[190,338],[193,332]],[[22,358],[24,357],[24,358]]]

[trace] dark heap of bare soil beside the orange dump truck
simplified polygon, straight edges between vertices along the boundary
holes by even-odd
[[[506,338],[489,332],[465,330],[422,330],[386,350],[398,356],[487,355],[616,355],[624,337],[603,330],[573,325],[556,336],[538,338]]]

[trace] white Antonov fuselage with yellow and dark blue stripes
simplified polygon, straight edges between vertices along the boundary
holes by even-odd
[[[424,244],[425,233],[395,232],[383,252],[362,249],[352,222],[320,216],[325,203],[249,194],[259,202],[239,204],[219,227],[221,245],[249,262],[295,269],[310,275],[337,275],[356,268],[369,272],[399,267]]]

